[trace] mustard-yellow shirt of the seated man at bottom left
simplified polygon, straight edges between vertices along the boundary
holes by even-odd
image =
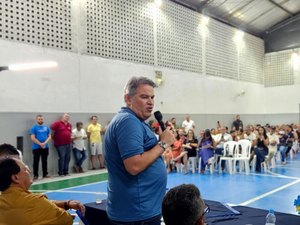
[[[10,187],[0,195],[0,225],[72,225],[73,217],[43,194]]]

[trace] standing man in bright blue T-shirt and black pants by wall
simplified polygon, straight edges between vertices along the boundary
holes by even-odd
[[[37,124],[30,129],[33,153],[33,180],[39,178],[40,158],[42,158],[43,178],[50,178],[47,168],[49,155],[48,142],[51,140],[50,128],[44,125],[44,117],[42,115],[36,116],[36,123]]]

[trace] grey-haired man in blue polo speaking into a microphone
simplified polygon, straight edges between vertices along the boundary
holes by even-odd
[[[146,77],[132,77],[125,87],[126,107],[105,133],[107,213],[112,224],[160,224],[167,182],[162,154],[175,137],[167,127],[158,142],[145,122],[154,108],[154,87]]]

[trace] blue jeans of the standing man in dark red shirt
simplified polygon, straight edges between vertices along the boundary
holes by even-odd
[[[71,144],[55,146],[58,153],[58,174],[69,174],[69,163],[71,159]]]

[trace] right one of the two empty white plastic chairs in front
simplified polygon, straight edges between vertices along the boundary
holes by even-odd
[[[233,162],[233,170],[236,172],[236,162],[239,162],[239,172],[245,169],[245,173],[248,175],[250,172],[250,151],[251,141],[242,139],[237,142],[238,151],[236,158]],[[253,160],[254,161],[254,160]]]

